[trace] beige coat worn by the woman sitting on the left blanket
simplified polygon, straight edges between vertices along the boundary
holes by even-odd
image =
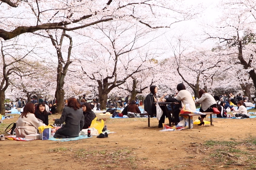
[[[28,113],[27,117],[20,116],[15,129],[16,137],[25,138],[26,135],[37,134],[38,127],[43,123],[39,122],[33,113]]]

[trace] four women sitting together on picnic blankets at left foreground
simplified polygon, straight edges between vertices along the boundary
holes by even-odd
[[[47,104],[40,102],[37,105],[27,103],[17,120],[16,137],[25,138],[26,135],[38,134],[38,128],[49,124]],[[91,105],[87,102],[80,104],[71,97],[67,100],[60,119],[53,118],[54,124],[63,124],[54,135],[54,138],[75,138],[82,129],[87,129],[96,117]]]

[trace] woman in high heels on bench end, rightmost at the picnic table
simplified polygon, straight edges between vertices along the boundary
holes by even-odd
[[[206,93],[203,89],[199,90],[199,99],[195,100],[195,103],[201,103],[201,108],[199,112],[213,112],[213,107],[217,108],[217,103],[212,95],[209,93]],[[201,115],[201,118],[198,117],[198,119],[201,121],[198,126],[204,125],[203,119],[206,117],[206,115]]]

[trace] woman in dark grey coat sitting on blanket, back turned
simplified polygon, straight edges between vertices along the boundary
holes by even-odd
[[[83,111],[78,101],[71,97],[67,100],[67,107],[64,107],[60,119],[53,118],[55,124],[65,124],[56,131],[54,138],[75,138],[84,125]]]

